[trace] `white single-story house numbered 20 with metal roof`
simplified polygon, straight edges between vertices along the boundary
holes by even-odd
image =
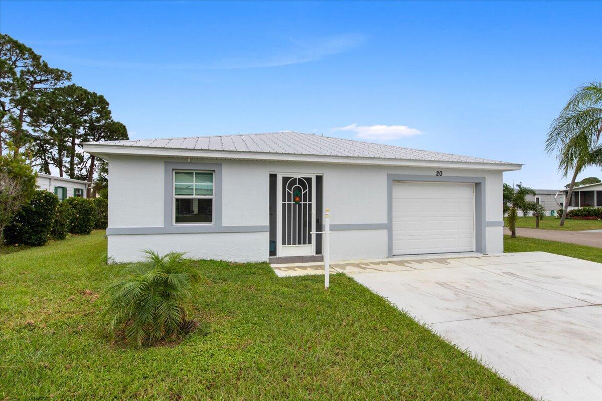
[[[237,262],[503,252],[512,164],[296,132],[83,144],[109,163],[108,256]],[[317,232],[318,231],[318,232]]]

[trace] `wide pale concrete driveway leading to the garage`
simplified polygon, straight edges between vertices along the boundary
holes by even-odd
[[[533,397],[602,400],[602,264],[530,252],[334,266]]]

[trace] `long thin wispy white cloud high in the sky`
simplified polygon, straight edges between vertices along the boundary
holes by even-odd
[[[290,66],[293,64],[309,63],[321,60],[330,55],[340,54],[360,46],[365,42],[364,35],[342,34],[330,37],[317,38],[315,40],[288,42],[288,46],[272,55],[261,57],[236,57],[224,58],[222,60],[206,62],[184,62],[184,63],[155,63],[146,61],[115,61],[115,60],[90,60],[70,58],[80,64],[93,67],[113,68],[149,68],[165,70],[234,70],[253,69],[265,67]]]

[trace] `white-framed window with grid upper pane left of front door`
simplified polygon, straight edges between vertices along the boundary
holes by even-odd
[[[214,171],[173,170],[173,224],[213,224]]]

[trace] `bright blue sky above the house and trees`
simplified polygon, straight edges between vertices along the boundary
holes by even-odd
[[[602,2],[0,2],[0,31],[104,94],[130,138],[296,130],[524,164],[602,79]],[[597,176],[590,168],[580,177]]]

